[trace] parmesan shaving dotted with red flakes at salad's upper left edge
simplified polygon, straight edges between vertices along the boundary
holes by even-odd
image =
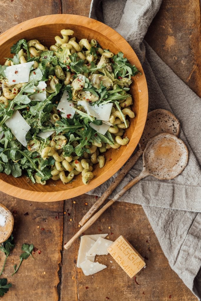
[[[28,82],[30,70],[33,64],[34,62],[29,62],[7,67],[4,73],[8,79],[9,85]]]

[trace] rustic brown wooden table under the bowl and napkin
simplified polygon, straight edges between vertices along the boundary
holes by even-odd
[[[0,32],[44,14],[62,12],[88,16],[89,9],[90,0],[0,0]],[[192,0],[190,5],[188,0],[164,0],[149,27],[146,41],[201,96],[199,23],[199,0]],[[34,203],[0,194],[0,202],[14,212],[17,244],[3,274],[12,283],[12,288],[3,297],[5,301],[197,300],[171,270],[139,205],[117,202],[87,231],[90,234],[109,233],[111,240],[122,234],[136,247],[147,262],[147,268],[137,274],[139,286],[118,264],[111,262],[110,256],[99,258],[107,269],[85,277],[76,268],[79,241],[65,252],[62,246],[79,229],[78,222],[95,200],[94,196],[82,195],[73,200]],[[13,265],[19,262],[23,243],[33,243],[38,251],[33,255],[35,260],[25,260],[12,277]],[[3,260],[1,253],[0,265]]]

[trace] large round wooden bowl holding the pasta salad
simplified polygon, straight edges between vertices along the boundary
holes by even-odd
[[[50,46],[55,44],[54,37],[60,35],[61,29],[72,29],[78,39],[96,39],[102,48],[109,49],[115,54],[122,51],[133,65],[135,64],[142,75],[132,78],[130,92],[133,96],[133,111],[135,118],[130,120],[130,127],[125,136],[130,138],[126,146],[119,150],[109,149],[105,153],[106,163],[100,169],[96,166],[94,178],[88,185],[84,185],[81,176],[75,181],[64,185],[61,181],[48,180],[48,184],[33,184],[27,177],[14,178],[12,175],[0,173],[1,191],[25,200],[50,202],[69,199],[84,194],[107,181],[128,160],[136,148],[143,132],[148,109],[148,91],[145,75],[137,55],[115,30],[96,20],[70,14],[56,14],[34,18],[20,23],[7,30],[0,36],[0,64],[5,63],[5,57],[10,57],[10,47],[20,39],[38,39],[42,44]],[[111,160],[109,160],[111,158]]]

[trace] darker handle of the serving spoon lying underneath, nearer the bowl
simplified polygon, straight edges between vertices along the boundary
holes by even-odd
[[[83,226],[93,215],[93,213],[104,203],[104,201],[108,198],[108,196],[115,190],[115,188],[119,185],[119,183],[123,180],[125,175],[129,172],[129,170],[133,167],[133,165],[137,162],[140,156],[143,154],[143,151],[139,149],[133,157],[126,163],[123,169],[119,172],[118,176],[115,178],[114,182],[108,187],[108,189],[102,194],[101,197],[93,204],[93,206],[89,209],[89,211],[83,216],[79,224]]]

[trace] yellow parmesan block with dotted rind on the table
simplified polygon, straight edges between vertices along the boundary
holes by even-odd
[[[135,276],[146,265],[143,257],[123,236],[115,240],[108,248],[108,252],[130,278]]]

